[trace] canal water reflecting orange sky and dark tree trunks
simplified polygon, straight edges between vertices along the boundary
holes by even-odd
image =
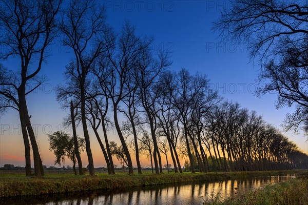
[[[206,196],[220,193],[222,198],[234,196],[249,189],[263,187],[268,183],[286,180],[284,177],[258,177],[245,180],[192,183],[189,185],[155,186],[134,188],[126,191],[95,191],[0,199],[0,204],[45,204],[45,205],[95,205],[95,204],[202,204]]]

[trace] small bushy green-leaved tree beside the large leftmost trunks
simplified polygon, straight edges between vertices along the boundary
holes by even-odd
[[[48,137],[50,150],[52,150],[55,155],[54,164],[58,164],[61,166],[61,163],[64,162],[65,157],[68,157],[73,162],[73,170],[75,175],[77,175],[75,169],[76,153],[74,150],[74,138],[68,136],[68,134],[63,133],[62,131],[54,132],[52,135],[48,135]],[[83,152],[85,148],[85,139],[82,139],[80,137],[77,138],[79,152]]]

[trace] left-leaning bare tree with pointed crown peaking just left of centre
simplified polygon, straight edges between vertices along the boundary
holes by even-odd
[[[117,38],[113,33],[110,34],[108,39],[112,39],[114,44],[108,47],[105,54],[105,64],[102,65],[101,68],[107,70],[109,75],[104,78],[104,80],[99,80],[100,83],[104,85],[104,90],[108,94],[112,103],[114,126],[118,132],[127,158],[129,174],[133,174],[130,153],[119,124],[118,111],[119,104],[130,94],[130,89],[128,89],[132,80],[130,72],[137,64],[138,55],[148,45],[142,42],[140,37],[136,36],[134,27],[132,27],[128,22],[126,22],[122,27],[121,35],[118,40],[115,40]],[[118,46],[116,46],[115,43],[117,43]]]

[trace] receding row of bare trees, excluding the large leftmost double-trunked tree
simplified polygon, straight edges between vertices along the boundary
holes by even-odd
[[[79,15],[74,16],[76,11],[71,8],[78,8]],[[67,86],[57,92],[63,107],[71,110],[68,121],[73,129],[74,120],[81,121],[91,175],[94,165],[88,129],[98,139],[110,174],[114,174],[112,155],[127,165],[130,174],[132,157],[136,158],[140,174],[140,148],[153,161],[156,174],[162,173],[166,149],[176,173],[182,172],[180,155],[189,158],[192,173],[194,156],[199,171],[208,171],[207,154],[215,156],[212,161],[221,171],[307,167],[307,155],[255,112],[223,101],[209,88],[206,76],[185,69],[169,71],[168,51],[153,50],[152,39],[138,36],[129,23],[115,34],[106,27],[101,10],[95,10],[98,13],[89,24],[91,8],[90,4],[71,4],[66,10],[60,29],[75,59],[66,67]],[[121,116],[126,118],[123,124]],[[109,142],[111,125],[120,146]],[[129,146],[128,135],[133,146]],[[166,142],[160,146],[163,139]]]

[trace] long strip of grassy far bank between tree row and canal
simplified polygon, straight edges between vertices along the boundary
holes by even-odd
[[[33,196],[56,193],[82,192],[93,190],[127,189],[131,187],[167,185],[197,181],[219,181],[244,179],[256,176],[275,176],[298,171],[257,171],[257,172],[209,172],[209,173],[164,173],[153,175],[107,175],[95,177],[74,175],[48,175],[42,178],[5,177],[0,178],[0,197]]]

